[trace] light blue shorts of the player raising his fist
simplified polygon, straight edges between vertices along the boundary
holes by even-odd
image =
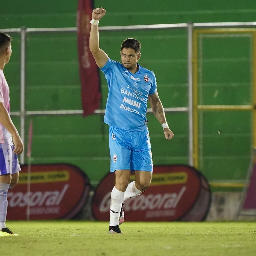
[[[148,130],[130,132],[109,126],[110,172],[137,170],[153,172]]]

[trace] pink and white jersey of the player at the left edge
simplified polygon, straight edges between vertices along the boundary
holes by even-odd
[[[0,103],[4,103],[4,106],[10,115],[9,86],[4,77],[3,70],[1,69],[0,69]],[[13,145],[12,135],[1,123],[0,123],[0,143]]]

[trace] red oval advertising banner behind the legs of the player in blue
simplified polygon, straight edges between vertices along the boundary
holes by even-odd
[[[150,187],[124,203],[127,221],[201,221],[209,211],[211,192],[205,177],[186,165],[154,166]],[[131,176],[131,181],[134,176]],[[109,220],[115,174],[99,184],[92,200],[97,220]]]

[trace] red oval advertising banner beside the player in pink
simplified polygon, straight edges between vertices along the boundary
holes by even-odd
[[[31,186],[27,187],[27,166],[21,166],[18,184],[8,191],[8,220],[70,219],[85,205],[90,185],[76,166],[31,165]]]

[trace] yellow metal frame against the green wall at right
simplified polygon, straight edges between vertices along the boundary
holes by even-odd
[[[213,33],[252,33],[253,35],[253,102],[252,105],[198,105],[198,34]],[[222,28],[194,29],[193,31],[193,161],[198,168],[198,110],[249,110],[253,111],[253,147],[256,149],[256,29]],[[217,185],[217,184],[215,184]],[[226,184],[227,186],[227,184]],[[230,185],[231,186],[231,185]]]

